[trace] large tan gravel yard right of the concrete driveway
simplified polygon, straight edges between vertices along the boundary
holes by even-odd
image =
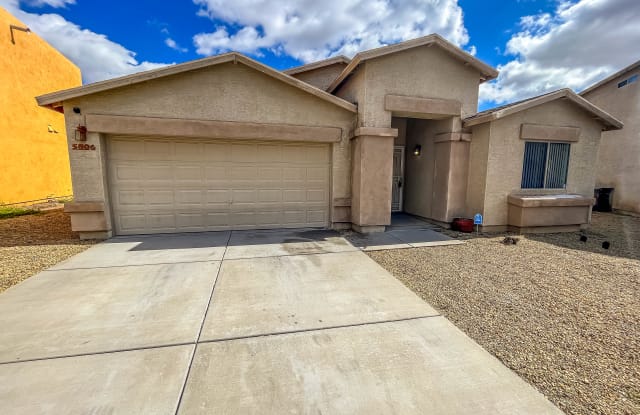
[[[460,236],[368,255],[567,414],[640,414],[640,218],[594,213],[590,231],[516,245]]]

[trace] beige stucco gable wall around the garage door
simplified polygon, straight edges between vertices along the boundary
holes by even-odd
[[[64,103],[69,146],[85,114],[327,126],[342,129],[333,144],[332,198],[351,195],[350,144],[355,114],[242,64],[226,63],[106,91]],[[81,114],[75,114],[79,107]],[[95,151],[71,151],[79,201],[105,201],[104,139],[89,134]],[[341,202],[343,203],[343,202]]]

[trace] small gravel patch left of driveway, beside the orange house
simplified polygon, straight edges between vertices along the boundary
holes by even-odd
[[[89,248],[62,211],[0,220],[0,292]]]

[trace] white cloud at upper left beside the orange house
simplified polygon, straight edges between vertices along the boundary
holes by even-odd
[[[39,0],[42,3],[73,3],[64,0]],[[0,6],[23,21],[29,28],[69,60],[78,65],[85,83],[101,81],[134,72],[165,66],[165,63],[139,62],[135,52],[109,40],[105,35],[83,29],[58,14],[27,13],[18,0],[0,0]]]

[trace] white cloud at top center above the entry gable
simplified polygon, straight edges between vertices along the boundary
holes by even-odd
[[[469,41],[457,0],[193,1],[199,15],[227,23],[194,36],[201,55],[270,50],[310,62],[434,32],[460,46]]]

